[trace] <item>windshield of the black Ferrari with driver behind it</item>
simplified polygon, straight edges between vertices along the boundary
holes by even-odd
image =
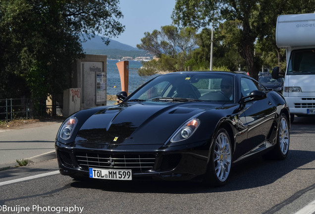
[[[174,73],[161,75],[143,86],[128,101],[233,102],[233,76],[217,73]]]

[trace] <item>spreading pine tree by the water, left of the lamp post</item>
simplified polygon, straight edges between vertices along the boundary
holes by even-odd
[[[137,48],[158,57],[143,63],[138,71],[140,76],[156,74],[160,71],[183,70],[189,53],[196,47],[196,30],[192,27],[178,29],[172,25],[162,26],[161,30],[146,32]]]

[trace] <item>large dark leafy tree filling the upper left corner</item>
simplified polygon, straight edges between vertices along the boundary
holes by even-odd
[[[81,43],[124,30],[119,0],[1,0],[0,96],[30,93],[36,103],[62,93],[71,64],[84,56]],[[81,39],[83,38],[83,39]],[[20,85],[15,85],[19,80]],[[20,93],[15,93],[15,88]]]

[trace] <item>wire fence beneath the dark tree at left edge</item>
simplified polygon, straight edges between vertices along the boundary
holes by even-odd
[[[62,106],[44,103],[40,110],[35,111],[32,101],[28,98],[0,99],[0,121],[8,122],[14,119],[34,116],[54,116],[56,108],[62,108]]]

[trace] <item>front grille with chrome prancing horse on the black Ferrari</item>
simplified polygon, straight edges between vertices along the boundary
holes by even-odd
[[[131,169],[133,172],[146,172],[155,164],[155,155],[107,155],[96,153],[76,153],[78,165],[84,170],[89,167],[104,169]]]

